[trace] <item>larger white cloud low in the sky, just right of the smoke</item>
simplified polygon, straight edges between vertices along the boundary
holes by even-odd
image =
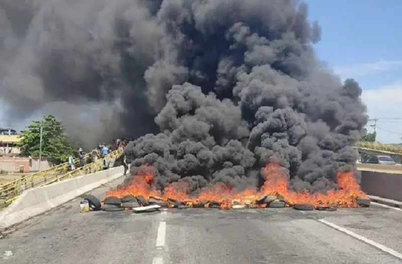
[[[362,100],[367,105],[369,117],[379,119],[377,141],[402,142],[402,81],[379,89],[363,91]],[[371,128],[368,130],[372,131]]]

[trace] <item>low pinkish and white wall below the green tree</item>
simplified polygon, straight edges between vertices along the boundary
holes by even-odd
[[[39,158],[19,157],[19,156],[0,156],[0,170],[8,172],[19,172],[20,166],[24,166],[24,172],[38,171]],[[47,159],[42,159],[41,170],[53,166],[54,163]]]

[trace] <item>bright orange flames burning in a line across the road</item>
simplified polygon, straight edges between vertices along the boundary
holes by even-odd
[[[159,197],[164,201],[173,199],[185,203],[187,206],[205,203],[205,207],[208,207],[212,203],[217,203],[222,209],[229,209],[233,204],[266,207],[266,204],[256,203],[257,199],[264,195],[280,195],[288,204],[311,203],[314,206],[338,205],[340,207],[358,207],[356,198],[368,198],[361,191],[351,171],[337,173],[339,190],[310,194],[307,191],[289,191],[287,175],[282,169],[277,163],[267,164],[262,170],[265,182],[259,191],[256,188],[248,188],[242,192],[235,192],[230,186],[224,183],[217,183],[212,188],[202,190],[197,196],[191,196],[188,194],[189,183],[185,181],[169,184],[163,190],[163,193],[157,191],[152,186],[154,180],[153,168],[151,166],[142,166],[141,172],[134,176],[129,185],[109,191],[107,196],[122,198],[126,195],[142,195],[146,199]]]

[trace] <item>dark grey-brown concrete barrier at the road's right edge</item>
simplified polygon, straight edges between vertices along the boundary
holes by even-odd
[[[368,195],[402,202],[402,172],[361,171],[361,189]]]

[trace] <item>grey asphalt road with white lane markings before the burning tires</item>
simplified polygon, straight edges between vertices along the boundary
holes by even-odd
[[[402,263],[401,222],[380,206],[82,214],[76,200],[0,240],[0,263]]]

